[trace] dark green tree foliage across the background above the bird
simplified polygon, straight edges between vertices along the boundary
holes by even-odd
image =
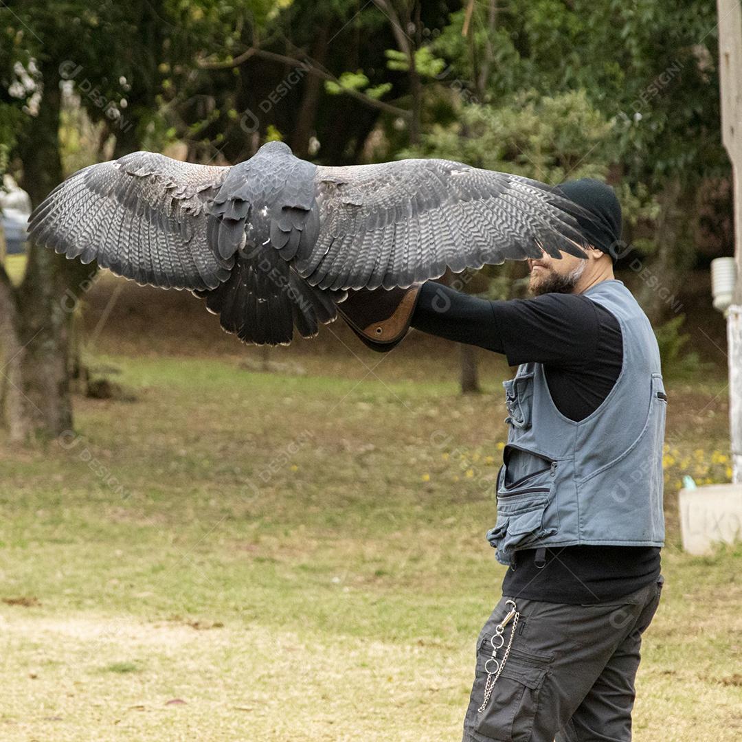
[[[332,165],[403,154],[548,183],[593,176],[615,184],[632,245],[664,260],[668,284],[673,269],[692,264],[693,230],[676,229],[663,252],[669,230],[658,225],[668,214],[671,225],[694,217],[697,184],[729,175],[713,3],[394,0],[384,12],[382,5],[0,3],[0,171],[22,171],[24,133],[45,91],[61,83],[65,173],[175,140],[188,145],[191,160],[234,162],[280,138]],[[332,80],[318,82],[301,66],[307,60]],[[410,116],[421,122],[414,148]],[[665,197],[672,183],[681,184],[674,204]],[[503,295],[512,276],[498,275],[490,288]],[[680,363],[680,335],[663,332],[663,352]]]

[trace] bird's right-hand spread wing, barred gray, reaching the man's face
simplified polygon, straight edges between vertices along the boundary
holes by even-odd
[[[554,188],[450,160],[318,167],[320,231],[295,269],[321,289],[390,289],[542,248],[585,257],[576,216]]]

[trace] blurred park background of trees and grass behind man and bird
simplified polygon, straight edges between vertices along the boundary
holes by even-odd
[[[677,506],[732,479],[718,36],[704,0],[1,1],[0,739],[460,735],[502,580],[505,360],[415,331],[378,355],[340,322],[246,347],[188,293],[25,241],[85,165],[272,139],[614,186],[670,398],[635,735],[739,739],[742,551],[683,552]]]

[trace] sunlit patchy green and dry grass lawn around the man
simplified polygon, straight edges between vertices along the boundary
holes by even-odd
[[[76,433],[0,447],[0,599],[29,603],[0,603],[0,740],[460,738],[503,574],[484,537],[499,395],[394,359],[365,380],[353,358],[98,361],[137,401],[76,399]],[[723,450],[722,388],[671,390],[675,459]],[[731,742],[742,551],[683,554],[666,499],[634,738]]]

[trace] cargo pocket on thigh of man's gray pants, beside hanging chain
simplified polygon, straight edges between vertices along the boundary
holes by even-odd
[[[506,632],[507,633],[507,632]],[[476,740],[517,742],[531,737],[531,727],[539,707],[539,695],[549,672],[549,657],[520,652],[513,646],[508,660],[492,688],[483,711],[487,672],[485,664],[492,656],[489,637],[479,648],[476,680],[469,715],[471,732]]]

